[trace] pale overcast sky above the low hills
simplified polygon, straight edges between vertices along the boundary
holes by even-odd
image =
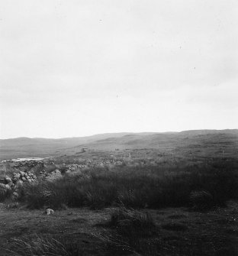
[[[2,0],[0,138],[238,128],[236,0]]]

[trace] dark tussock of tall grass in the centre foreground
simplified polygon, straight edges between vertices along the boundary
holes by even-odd
[[[144,255],[150,244],[147,239],[158,235],[149,212],[139,212],[124,206],[112,210],[108,226],[116,232],[108,239],[109,251],[122,255]]]

